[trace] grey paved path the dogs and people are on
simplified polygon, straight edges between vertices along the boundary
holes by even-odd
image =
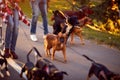
[[[5,27],[3,28],[5,29]],[[41,24],[37,27],[38,42],[32,42],[30,40],[30,27],[24,24],[20,25],[19,37],[16,46],[16,52],[19,56],[18,60],[8,59],[10,64],[10,77],[3,78],[3,80],[24,80],[19,77],[21,66],[26,62],[26,55],[29,50],[35,46],[41,55],[44,55],[43,48],[43,28]],[[49,27],[49,31],[52,32],[52,28]],[[85,45],[81,45],[79,38],[75,38],[75,44],[70,45],[69,40],[67,42],[67,63],[63,63],[63,55],[61,52],[56,52],[55,61],[52,61],[56,67],[61,71],[66,71],[69,75],[64,76],[64,80],[85,80],[88,74],[88,70],[91,66],[91,62],[82,57],[82,54],[86,54],[96,62],[106,65],[110,70],[120,73],[120,51],[109,48],[104,45],[98,45],[97,43],[89,40],[85,40]],[[50,58],[47,58],[50,60]],[[31,61],[34,62],[34,55],[31,55]],[[16,63],[14,63],[16,62]],[[0,80],[2,80],[0,78]],[[91,80],[97,80],[95,76]]]

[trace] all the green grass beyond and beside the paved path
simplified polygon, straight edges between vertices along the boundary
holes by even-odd
[[[32,17],[32,11],[30,8],[29,0],[26,0],[24,3],[20,3],[20,6],[23,12],[27,17]],[[52,15],[53,10],[68,10],[71,9],[69,3],[66,0],[50,0],[49,9],[48,9],[48,22],[49,25],[52,25],[50,21],[50,17]],[[41,18],[39,19],[41,21]],[[95,31],[90,28],[83,28],[83,36],[86,39],[95,40],[100,44],[107,44],[113,47],[116,47],[120,50],[120,36],[112,35],[106,32]]]

